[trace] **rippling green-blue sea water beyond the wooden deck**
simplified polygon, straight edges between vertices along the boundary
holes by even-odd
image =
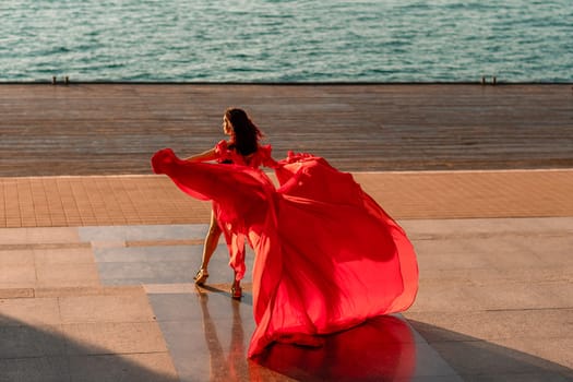
[[[0,82],[573,81],[573,0],[1,0]]]

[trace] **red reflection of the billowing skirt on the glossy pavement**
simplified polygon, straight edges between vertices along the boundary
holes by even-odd
[[[324,337],[324,346],[276,344],[256,362],[301,381],[408,381],[416,370],[416,343],[408,324],[378,317]],[[264,369],[251,366],[251,380],[264,381]]]

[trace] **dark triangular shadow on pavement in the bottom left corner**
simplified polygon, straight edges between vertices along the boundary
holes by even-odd
[[[167,353],[114,354],[67,337],[60,325],[33,326],[0,314],[0,381],[178,381],[175,372],[142,365],[172,370]]]

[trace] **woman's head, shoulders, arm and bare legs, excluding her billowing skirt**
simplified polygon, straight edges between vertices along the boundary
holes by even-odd
[[[220,141],[217,145],[204,153],[190,156],[184,160],[189,163],[217,160],[227,165],[239,165],[258,168],[261,165],[273,165],[275,162],[271,158],[271,146],[261,146],[259,141],[262,133],[259,128],[252,122],[247,112],[239,108],[228,108],[223,116],[223,132],[229,135],[228,141]],[[208,277],[208,262],[211,256],[217,248],[220,234],[224,231],[217,220],[217,214],[220,213],[216,202],[213,203],[211,212],[211,222],[205,242],[203,247],[203,260],[200,270],[194,277],[196,285],[204,285]],[[226,231],[227,243],[231,250],[231,266],[232,263],[239,267],[243,267],[244,248],[236,248],[232,246],[232,240],[243,242],[242,238],[234,237]],[[237,246],[240,243],[237,242]],[[242,246],[244,247],[244,246]],[[235,267],[235,266],[234,266]],[[240,279],[244,274],[242,272],[235,273],[235,278],[231,287],[232,298],[241,298],[242,290],[240,287]]]

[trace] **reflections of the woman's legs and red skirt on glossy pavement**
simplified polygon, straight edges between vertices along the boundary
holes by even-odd
[[[222,324],[210,312],[210,298],[223,297],[220,295],[198,289],[208,348],[210,381],[390,381],[409,380],[415,372],[413,332],[403,319],[393,315],[323,336],[321,347],[274,344],[260,357],[248,360],[250,333],[244,332],[241,302],[228,298],[232,314],[230,326]],[[218,333],[225,326],[230,330],[227,349]]]

